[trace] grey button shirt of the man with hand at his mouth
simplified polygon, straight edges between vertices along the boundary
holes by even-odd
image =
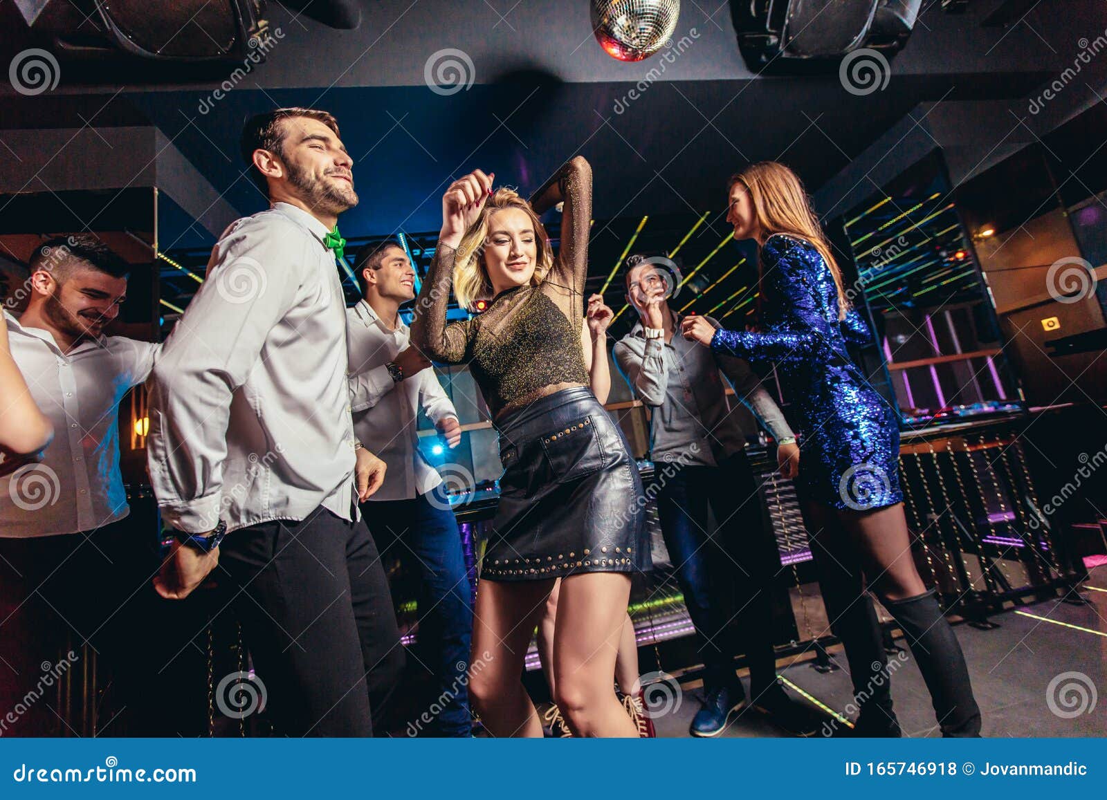
[[[615,362],[627,383],[642,403],[652,407],[650,456],[659,459],[668,455],[686,465],[716,466],[745,447],[742,425],[733,413],[737,406],[727,402],[720,370],[731,381],[735,396],[774,438],[793,436],[784,414],[749,364],[742,359],[716,356],[711,347],[687,341],[680,334],[680,314],[670,313],[675,333],[668,344],[664,339],[646,339],[639,321],[614,346]],[[710,316],[707,321],[720,328]]]

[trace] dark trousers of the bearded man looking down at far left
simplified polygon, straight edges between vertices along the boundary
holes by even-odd
[[[0,538],[0,736],[158,733],[156,698],[172,690],[159,671],[175,648],[158,625],[156,544],[156,523],[135,517]],[[95,703],[93,718],[82,717],[82,692],[61,693],[68,680]]]

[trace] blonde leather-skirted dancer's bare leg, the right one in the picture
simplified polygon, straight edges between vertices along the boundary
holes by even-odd
[[[639,736],[611,686],[629,600],[630,575],[620,572],[561,580],[554,633],[555,698],[573,736]]]

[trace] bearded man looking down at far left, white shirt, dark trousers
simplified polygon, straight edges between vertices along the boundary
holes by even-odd
[[[118,405],[161,345],[104,335],[128,266],[96,237],[51,239],[30,268],[25,311],[3,313],[12,359],[56,433],[42,454],[0,463],[0,709],[24,709],[0,718],[7,736],[65,733],[41,682],[81,668],[62,662],[80,658],[86,642],[97,671],[114,671],[126,692],[153,672],[145,644],[139,654],[133,642],[156,601],[158,531],[154,520],[127,519]],[[107,721],[99,733],[118,734],[126,719]]]

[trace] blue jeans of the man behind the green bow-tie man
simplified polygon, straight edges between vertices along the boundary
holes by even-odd
[[[382,553],[394,552],[417,568],[420,588],[416,661],[433,675],[430,723],[416,730],[470,736],[468,671],[473,601],[457,520],[442,486],[411,500],[370,500],[361,507]],[[410,729],[411,733],[411,729]]]

